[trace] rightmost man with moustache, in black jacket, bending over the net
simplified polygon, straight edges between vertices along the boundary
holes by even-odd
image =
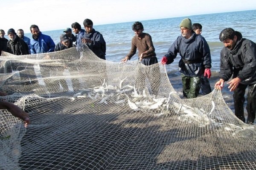
[[[232,28],[221,31],[219,39],[224,43],[221,50],[220,80],[215,88],[222,89],[227,82],[230,91],[234,91],[235,115],[245,122],[244,94],[247,94],[247,123],[253,124],[256,113],[256,44],[242,38],[242,34]]]

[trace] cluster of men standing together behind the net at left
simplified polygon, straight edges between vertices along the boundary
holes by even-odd
[[[9,41],[4,37],[5,32],[0,30],[0,54],[1,51],[6,51],[15,55],[26,55],[26,54],[41,54],[53,51],[61,51],[70,47],[73,44],[77,48],[83,48],[87,45],[99,58],[105,59],[106,55],[106,42],[98,31],[93,28],[93,22],[90,19],[84,20],[84,29],[81,29],[79,23],[73,23],[71,28],[66,28],[61,34],[60,42],[56,45],[52,38],[48,35],[42,34],[37,25],[30,26],[32,33],[32,40],[24,36],[24,31],[19,29],[17,34],[13,28],[7,31]]]

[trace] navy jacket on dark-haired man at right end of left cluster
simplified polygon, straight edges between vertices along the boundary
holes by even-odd
[[[101,59],[105,59],[105,55],[106,55],[106,42],[102,36],[102,34],[100,34],[98,31],[95,31],[95,29],[93,29],[92,32],[90,32],[89,34],[87,34],[87,32],[84,32],[84,35],[82,37],[87,38],[92,40],[92,43],[86,43],[86,45],[90,48],[91,51],[93,51],[94,54],[96,54],[96,56],[98,56]]]

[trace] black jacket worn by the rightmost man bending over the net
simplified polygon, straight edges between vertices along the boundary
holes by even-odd
[[[245,38],[238,37],[233,50],[224,47],[221,50],[220,78],[228,81],[239,77],[241,84],[256,83],[256,44]]]

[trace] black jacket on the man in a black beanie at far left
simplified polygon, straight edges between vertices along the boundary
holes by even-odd
[[[20,37],[16,35],[14,41],[8,41],[7,52],[15,55],[27,55],[29,54],[29,47],[25,41],[23,41],[22,39],[20,39]]]

